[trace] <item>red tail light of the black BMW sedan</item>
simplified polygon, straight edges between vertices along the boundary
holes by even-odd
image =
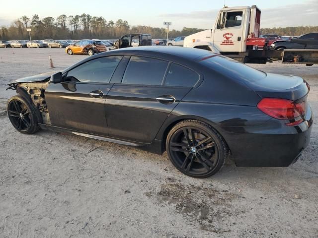
[[[263,113],[276,119],[294,120],[299,116],[305,114],[306,103],[295,103],[292,100],[280,98],[263,98],[258,104],[257,108]],[[303,119],[286,123],[287,125],[297,125]]]

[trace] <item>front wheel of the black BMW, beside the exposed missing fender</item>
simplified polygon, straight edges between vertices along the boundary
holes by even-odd
[[[11,97],[6,110],[11,124],[17,131],[33,134],[40,129],[34,105],[21,95]]]

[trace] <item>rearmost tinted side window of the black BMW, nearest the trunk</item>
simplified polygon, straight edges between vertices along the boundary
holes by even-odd
[[[199,80],[199,75],[181,65],[171,63],[164,81],[165,86],[193,87]]]

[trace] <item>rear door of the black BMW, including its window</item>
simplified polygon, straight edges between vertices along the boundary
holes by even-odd
[[[164,86],[170,64],[154,58],[131,57],[121,83],[115,83],[107,95],[109,136],[141,143],[155,139],[164,120],[191,90]]]

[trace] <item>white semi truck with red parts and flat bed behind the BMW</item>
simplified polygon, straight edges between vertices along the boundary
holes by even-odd
[[[212,29],[184,39],[184,47],[205,49],[248,63],[282,60],[285,63],[318,63],[318,50],[270,51],[259,38],[261,10],[256,6],[224,7]],[[262,50],[258,50],[262,47]]]

